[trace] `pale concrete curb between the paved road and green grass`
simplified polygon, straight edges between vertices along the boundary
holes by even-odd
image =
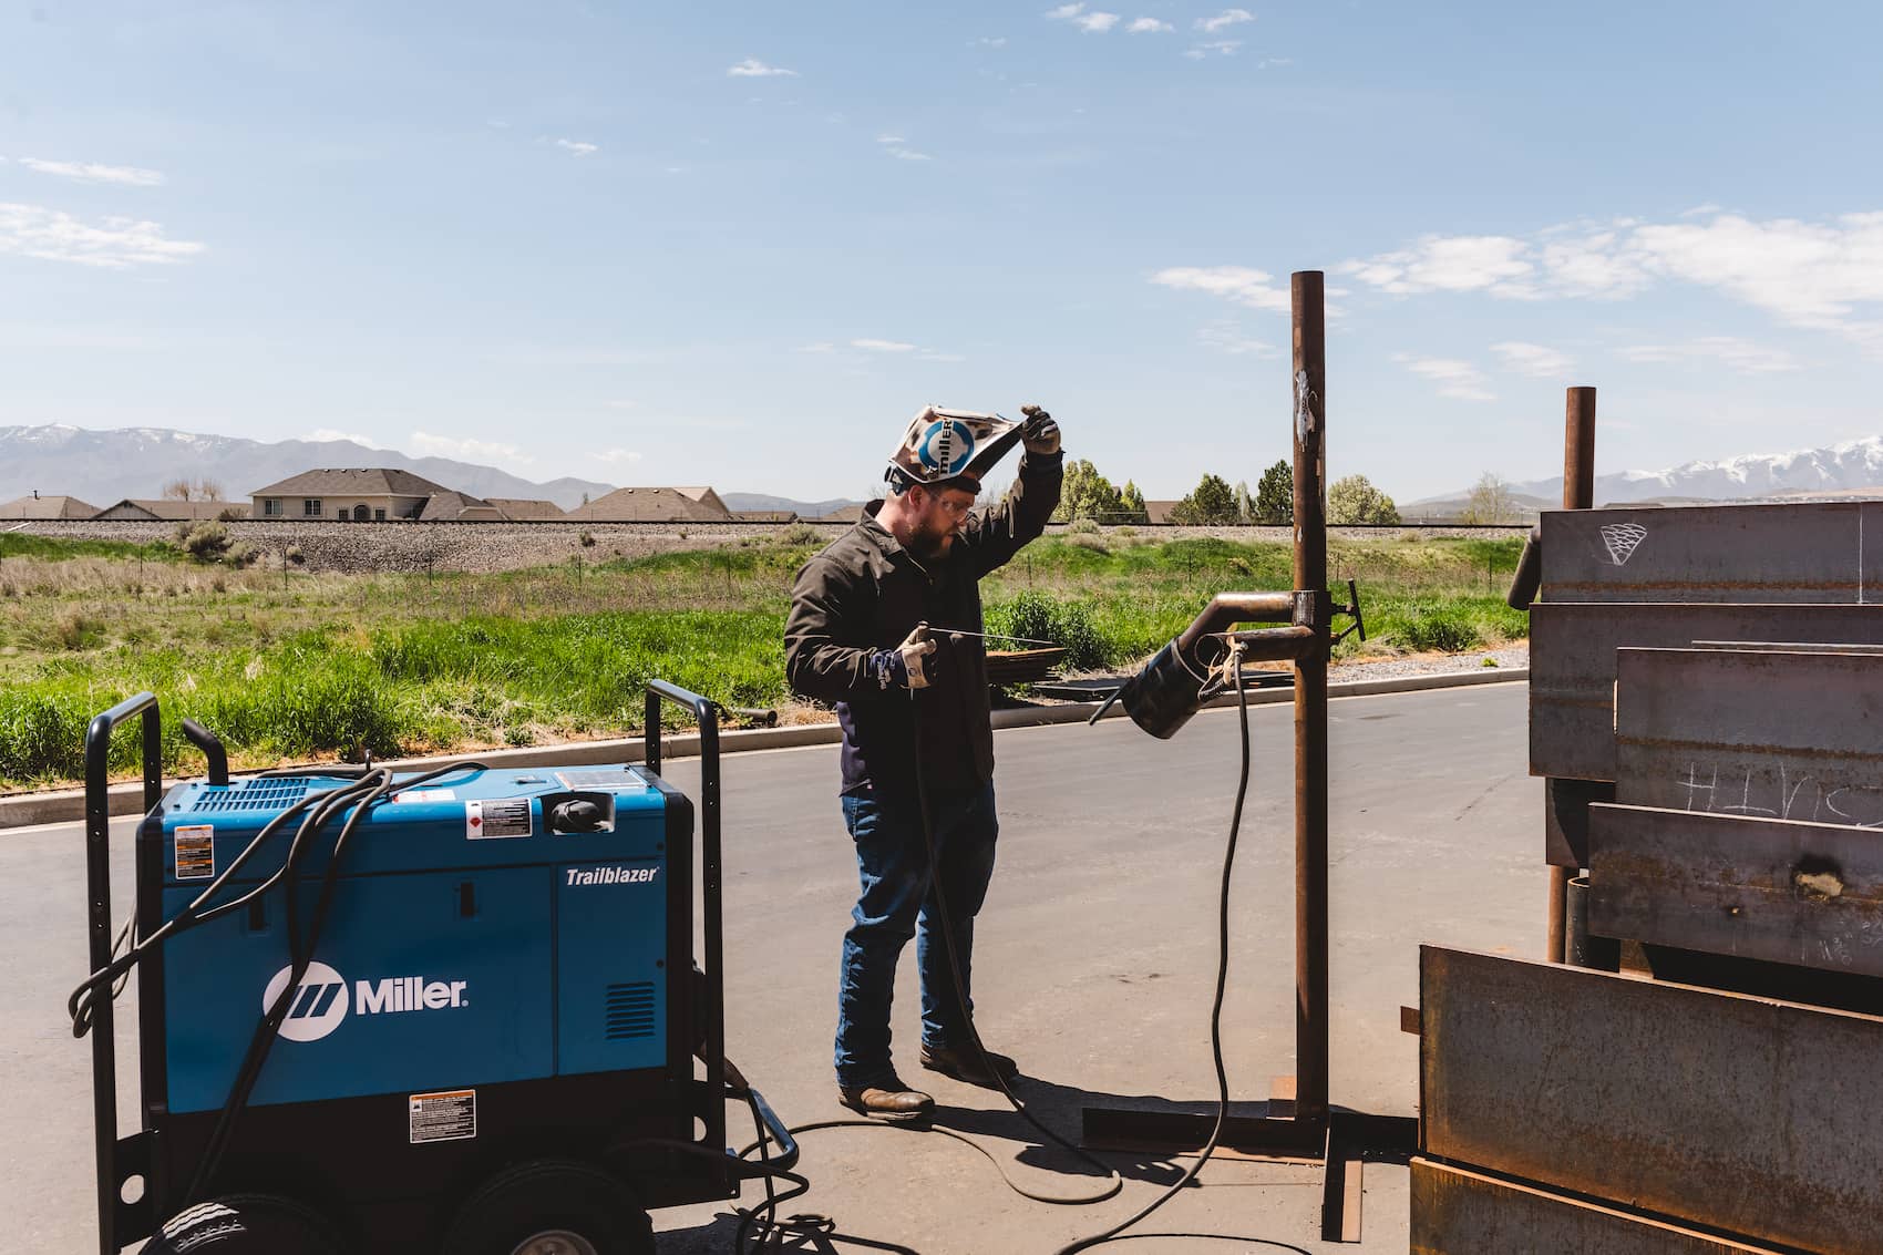
[[[1473,684],[1527,684],[1529,667],[1450,671],[1439,675],[1408,675],[1390,680],[1348,680],[1329,684],[1329,697],[1371,697],[1376,693],[1412,693],[1431,688],[1467,688]],[[1279,701],[1294,701],[1292,688],[1262,688],[1248,693],[1248,705],[1263,707]],[[1053,724],[1083,724],[1092,718],[1102,703],[1073,701],[1062,707],[1024,707],[1019,710],[994,710],[994,729],[1006,727],[1047,727]],[[1233,707],[1235,695],[1211,701],[1205,710]],[[1113,707],[1107,720],[1124,718],[1124,710]],[[751,727],[719,733],[721,754],[742,754],[749,750],[787,750],[804,744],[836,744],[842,731],[836,724],[800,724],[795,727]],[[699,754],[699,733],[680,733],[661,737],[663,758],[693,758]],[[642,737],[621,741],[580,741],[574,744],[531,746],[523,750],[484,750],[476,754],[443,754],[433,758],[405,758],[388,761],[388,767],[401,771],[424,771],[443,763],[476,759],[488,767],[589,767],[597,763],[638,763],[646,759],[648,742]],[[173,782],[171,782],[173,784]],[[111,814],[141,814],[143,784],[113,784]],[[58,790],[47,793],[13,793],[0,797],[0,829],[32,827],[36,823],[70,823],[85,818],[85,791]]]

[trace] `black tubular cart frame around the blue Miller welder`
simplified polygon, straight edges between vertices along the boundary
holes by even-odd
[[[684,959],[691,952],[691,895],[695,807],[693,803],[661,776],[661,709],[663,703],[676,703],[693,712],[699,724],[700,756],[700,799],[699,799],[699,872],[702,891],[702,931],[706,967]],[[109,750],[111,737],[119,725],[137,718],[143,741],[143,814],[156,812],[164,801],[162,780],[162,716],[158,699],[153,693],[137,693],[98,714],[85,733],[85,871],[87,871],[87,933],[90,948],[90,970],[98,972],[113,961],[113,912],[111,912],[111,812],[109,812]],[[196,742],[209,758],[209,784],[228,784],[228,759],[222,746],[211,733],[190,720],[183,722],[185,735]],[[667,805],[668,846],[676,871],[672,876],[676,893],[685,899],[684,918],[668,933],[668,997],[670,1006],[680,1010],[678,1025],[670,1027],[668,1057],[655,1078],[655,1085],[667,1091],[700,1129],[693,1142],[667,1142],[633,1146],[633,1172],[616,1172],[621,1180],[636,1187],[644,1206],[676,1206],[684,1202],[708,1202],[717,1198],[736,1198],[740,1182],[781,1168],[791,1168],[797,1161],[797,1144],[785,1131],[783,1121],[770,1110],[757,1091],[738,1093],[727,1089],[725,1063],[725,974],[723,959],[723,901],[721,901],[721,788],[719,788],[719,709],[716,703],[691,693],[665,680],[652,680],[646,690],[646,754],[642,765],[650,788],[663,793]],[[162,912],[160,884],[162,874],[153,876],[143,863],[151,852],[160,852],[151,842],[139,842],[137,850],[137,921],[139,935],[149,935],[158,925]],[[154,859],[153,859],[154,861]],[[153,888],[153,882],[156,888]],[[183,1198],[186,1174],[177,1172],[166,1153],[166,1138],[171,1125],[183,1117],[168,1112],[168,1078],[164,1072],[164,982],[162,953],[153,955],[149,970],[139,972],[139,1100],[141,1129],[124,1138],[117,1133],[117,1038],[115,1006],[109,984],[96,989],[90,1004],[92,1036],[92,1136],[96,1153],[98,1187],[98,1251],[100,1255],[119,1255],[126,1246],[156,1234],[158,1227],[201,1198]],[[153,1046],[154,1042],[154,1046]],[[704,1063],[704,1078],[693,1074],[695,1055]],[[763,1119],[766,1133],[776,1142],[768,1165],[740,1161],[725,1144],[725,1100],[729,1097],[748,1099]],[[320,1102],[305,1104],[326,1106]],[[177,1138],[188,1140],[188,1138]],[[345,1142],[341,1142],[345,1146]],[[627,1157],[627,1155],[623,1155]],[[501,1170],[503,1149],[491,1146],[482,1153],[476,1176]],[[642,1176],[646,1174],[646,1176]],[[653,1185],[648,1189],[648,1185]],[[215,1182],[211,1182],[211,1193]],[[132,1193],[132,1200],[124,1195]],[[450,1208],[475,1193],[459,1191],[458,1197],[439,1200],[433,1215],[448,1215]],[[373,1234],[380,1236],[380,1234]]]

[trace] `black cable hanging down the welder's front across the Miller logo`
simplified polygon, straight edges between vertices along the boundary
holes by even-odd
[[[435,767],[424,774],[418,774],[403,784],[394,782],[394,774],[386,767],[377,767],[371,774],[362,776],[358,782],[330,790],[322,793],[324,805],[318,807],[307,820],[301,822],[301,829],[294,837],[294,844],[288,848],[288,857],[282,859],[282,874],[286,876],[286,929],[288,929],[288,980],[275,997],[275,1002],[256,1023],[254,1035],[249,1038],[249,1050],[243,1055],[241,1068],[235,1072],[235,1082],[230,1085],[230,1095],[222,1102],[222,1112],[217,1116],[215,1129],[209,1134],[209,1142],[203,1148],[201,1157],[196,1161],[196,1172],[190,1178],[190,1187],[183,1195],[185,1206],[200,1202],[209,1182],[215,1180],[217,1168],[222,1165],[222,1155],[228,1151],[230,1142],[235,1136],[235,1123],[241,1112],[249,1106],[249,1095],[254,1091],[256,1082],[262,1076],[262,1067],[267,1063],[267,1055],[275,1046],[275,1035],[281,1023],[288,1018],[288,1008],[294,1006],[294,999],[299,993],[301,978],[307,974],[307,965],[313,963],[314,952],[320,948],[320,935],[326,929],[328,912],[333,905],[333,891],[339,884],[341,856],[346,852],[346,844],[352,840],[354,831],[365,820],[367,812],[384,797],[392,795],[394,790],[422,788],[459,771],[478,771],[484,763],[463,761],[446,763]],[[328,854],[328,867],[320,878],[320,893],[314,899],[314,916],[309,923],[307,944],[299,938],[299,906],[298,893],[299,888],[299,850],[301,842],[313,840],[314,835],[333,818],[335,812],[352,807],[352,814],[341,823],[339,835],[333,839],[333,848]]]

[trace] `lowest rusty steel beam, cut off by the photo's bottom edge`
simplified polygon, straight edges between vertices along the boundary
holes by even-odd
[[[1599,1251],[1601,1255],[1778,1255],[1663,1217],[1602,1206],[1469,1168],[1412,1161],[1412,1255]]]

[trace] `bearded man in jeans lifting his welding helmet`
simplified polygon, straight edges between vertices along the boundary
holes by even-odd
[[[979,580],[1045,531],[1060,497],[1060,432],[1038,405],[1024,422],[928,407],[889,460],[889,490],[864,518],[798,571],[785,624],[785,675],[804,697],[836,705],[844,727],[842,807],[861,893],[844,935],[836,1084],[872,1119],[919,1121],[934,1099],[896,1076],[889,1004],[896,959],[915,937],[925,1068],[992,1085],[968,1018],[974,918],[994,872],[994,735]],[[974,513],[981,481],[1024,447],[1007,496]],[[957,631],[951,631],[957,629]],[[919,774],[917,774],[919,771]],[[934,837],[928,867],[923,807]],[[960,965],[949,974],[936,895],[947,899]]]

